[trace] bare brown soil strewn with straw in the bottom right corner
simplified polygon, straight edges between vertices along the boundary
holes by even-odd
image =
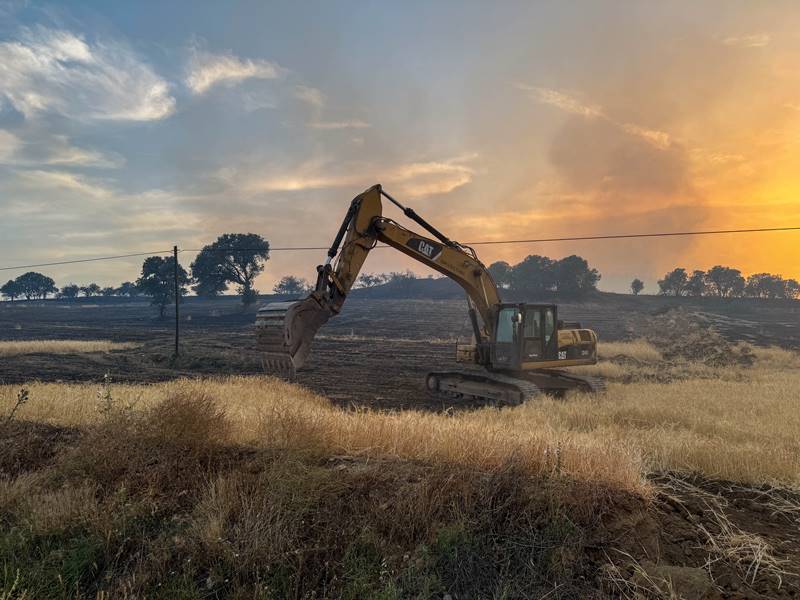
[[[646,511],[604,524],[596,557],[629,598],[766,599],[800,595],[800,494],[663,474]]]

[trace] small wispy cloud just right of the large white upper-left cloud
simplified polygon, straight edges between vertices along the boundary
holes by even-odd
[[[231,53],[210,54],[194,51],[186,86],[194,94],[205,94],[212,87],[231,87],[247,79],[277,79],[285,69],[268,60],[242,59]]]

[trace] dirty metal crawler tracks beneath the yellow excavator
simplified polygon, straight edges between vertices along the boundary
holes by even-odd
[[[514,406],[541,396],[563,396],[569,390],[599,394],[606,390],[600,377],[564,371],[530,371],[520,377],[492,372],[486,375],[465,371],[428,373],[425,385],[431,394],[449,399],[473,399],[500,406]]]

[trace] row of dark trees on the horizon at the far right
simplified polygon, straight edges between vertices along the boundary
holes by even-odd
[[[658,281],[663,296],[699,298],[800,298],[800,283],[772,273],[754,273],[744,277],[739,269],[717,265],[708,271],[673,269]]]

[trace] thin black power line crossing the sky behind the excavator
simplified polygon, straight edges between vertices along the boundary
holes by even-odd
[[[572,237],[557,237],[557,238],[535,238],[525,240],[483,240],[478,242],[465,242],[465,246],[490,246],[500,244],[539,244],[548,242],[581,242],[581,241],[594,241],[594,240],[624,240],[636,238],[657,238],[657,237],[679,237],[679,236],[695,236],[695,235],[722,235],[722,234],[741,234],[741,233],[769,233],[776,231],[800,231],[800,227],[762,227],[751,229],[718,229],[707,231],[667,231],[658,233],[625,233],[614,235],[587,235],[587,236],[572,236]],[[381,245],[376,248],[388,248],[389,246]],[[300,252],[307,250],[327,250],[327,246],[278,246],[270,248],[270,252]],[[183,248],[179,252],[201,252],[202,248]],[[220,248],[218,252],[255,252],[264,250],[264,248]],[[32,269],[36,267],[52,267],[58,265],[70,265],[75,263],[96,262],[102,260],[115,260],[119,258],[131,258],[135,256],[152,256],[155,254],[170,254],[173,250],[156,250],[153,252],[135,252],[131,254],[118,254],[115,256],[97,256],[94,258],[80,258],[75,260],[62,260],[58,262],[38,263],[30,265],[18,265],[14,267],[0,267],[0,271],[13,271],[18,269]]]

